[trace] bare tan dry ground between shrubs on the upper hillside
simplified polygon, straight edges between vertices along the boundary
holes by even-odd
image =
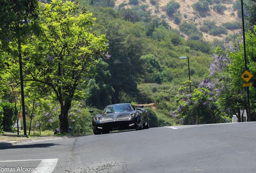
[[[157,15],[159,18],[161,18],[162,15],[167,16],[164,11],[164,8],[170,0],[156,0],[156,1],[159,3],[159,8],[158,8],[159,11],[157,11],[156,6],[153,6],[150,3],[150,0],[143,0],[143,1],[140,0],[139,5],[141,5],[141,4],[149,5],[148,10],[151,10],[152,14]],[[119,6],[123,2],[124,2],[124,0],[116,0],[116,6]],[[126,1],[126,2],[128,2],[128,1]],[[240,20],[237,18],[237,12],[235,10],[233,10],[233,8],[232,8],[232,4],[233,4],[234,0],[230,0],[228,4],[226,4],[226,3],[222,4],[227,7],[227,9],[224,11],[224,14],[216,13],[213,10],[213,5],[211,5],[209,14],[203,18],[200,17],[200,15],[196,14],[196,12],[194,12],[194,10],[192,8],[192,4],[198,2],[198,0],[175,0],[175,2],[178,2],[180,4],[180,8],[179,8],[178,12],[182,16],[181,21],[182,22],[187,21],[189,23],[193,23],[198,28],[200,28],[200,26],[202,25],[204,20],[215,21],[217,26],[220,26],[221,24],[223,24],[225,22],[235,22],[237,20]],[[131,8],[131,6],[129,6],[129,8]],[[232,14],[235,14],[235,15],[232,15]],[[186,18],[184,17],[184,15],[186,15]],[[179,29],[178,25],[173,22],[173,19],[169,18],[168,16],[167,16],[167,18],[165,18],[165,21],[172,28]],[[237,33],[239,31],[240,30],[232,30],[232,31],[228,30],[228,34]],[[212,36],[212,35],[209,35],[209,34],[206,34],[203,32],[204,39],[207,41],[212,41],[214,38],[222,40],[227,35],[222,34],[221,36]]]

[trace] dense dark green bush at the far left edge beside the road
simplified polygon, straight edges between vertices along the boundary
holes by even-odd
[[[16,121],[15,105],[13,103],[0,103],[0,107],[2,107],[2,114],[4,115],[2,117],[3,130],[12,131]]]

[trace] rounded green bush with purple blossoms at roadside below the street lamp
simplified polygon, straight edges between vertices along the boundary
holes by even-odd
[[[192,94],[180,94],[176,98],[178,109],[171,112],[176,119],[176,124],[209,124],[230,122],[231,118],[222,114],[217,109],[217,104],[212,100],[211,91],[206,88],[194,89]],[[224,120],[224,121],[223,121]]]

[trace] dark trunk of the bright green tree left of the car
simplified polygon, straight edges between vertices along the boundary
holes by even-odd
[[[71,101],[66,101],[60,110],[60,133],[68,133],[68,111],[71,107]]]

